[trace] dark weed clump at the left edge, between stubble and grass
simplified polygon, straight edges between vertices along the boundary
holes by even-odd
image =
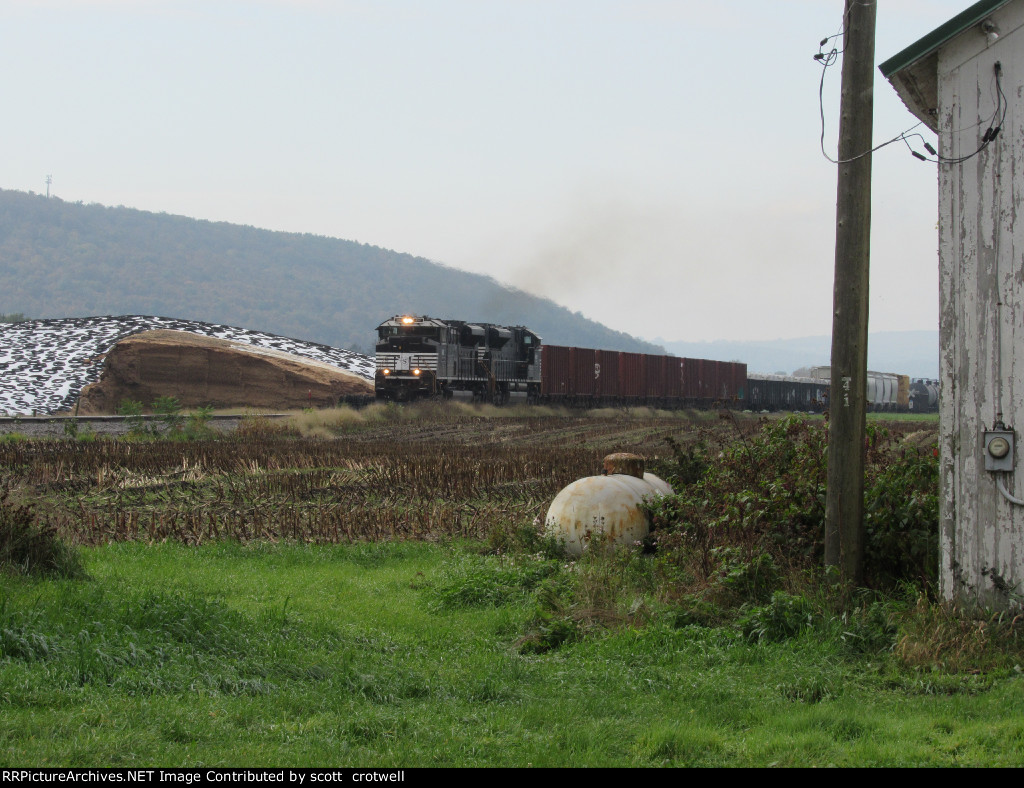
[[[0,568],[22,574],[71,579],[86,577],[78,551],[57,536],[56,528],[40,523],[30,504],[16,504],[0,491]]]

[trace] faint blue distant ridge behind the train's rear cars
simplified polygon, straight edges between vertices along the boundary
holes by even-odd
[[[755,342],[669,342],[670,353],[695,358],[742,361],[752,373],[785,373],[801,367],[828,365],[830,337],[802,337]],[[867,337],[867,368],[911,378],[939,377],[938,331],[876,332]]]

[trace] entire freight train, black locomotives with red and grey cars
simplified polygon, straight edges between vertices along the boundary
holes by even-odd
[[[808,378],[757,375],[735,361],[542,346],[521,325],[396,315],[377,327],[374,387],[378,399],[397,402],[459,398],[820,411],[828,405],[828,378],[827,367],[812,369]],[[914,400],[911,393],[919,389]],[[911,387],[906,376],[868,374],[870,409],[926,409],[933,393],[937,402],[935,387]]]

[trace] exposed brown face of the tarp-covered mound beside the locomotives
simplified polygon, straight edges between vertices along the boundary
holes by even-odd
[[[122,340],[103,359],[99,381],[79,398],[82,415],[114,413],[123,400],[148,406],[162,396],[183,408],[327,407],[373,384],[331,364],[281,351],[176,331]]]

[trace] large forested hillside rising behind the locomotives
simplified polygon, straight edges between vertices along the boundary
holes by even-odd
[[[0,190],[0,312],[162,315],[370,351],[397,313],[651,352],[554,302],[379,247]]]

